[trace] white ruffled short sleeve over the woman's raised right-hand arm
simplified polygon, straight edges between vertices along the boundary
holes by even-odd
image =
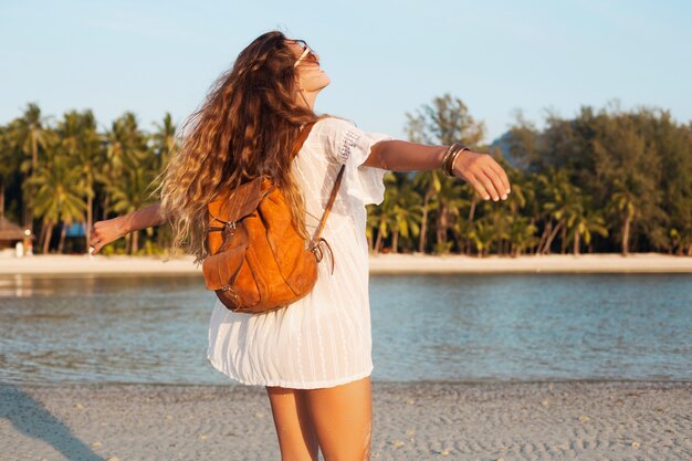
[[[322,124],[326,132],[331,160],[346,164],[342,188],[363,205],[381,203],[385,199],[382,179],[387,170],[363,164],[375,144],[394,138],[380,133],[364,132],[340,118],[327,118]]]

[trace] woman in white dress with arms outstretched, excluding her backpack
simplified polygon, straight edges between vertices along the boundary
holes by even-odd
[[[323,231],[334,272],[331,264],[319,264],[317,283],[306,297],[265,314],[233,313],[217,301],[209,325],[210,363],[240,383],[266,387],[284,461],[317,460],[318,449],[327,461],[369,459],[373,363],[365,205],[382,201],[387,170],[441,168],[450,153],[449,146],[394,140],[339,118],[317,117],[315,98],[328,84],[319,56],[305,42],[280,32],[259,36],[191,118],[191,129],[165,171],[160,203],[96,222],[92,232],[96,253],[128,232],[169,221],[175,243],[199,262],[207,256],[206,206],[219,188],[269,175],[290,198],[296,229],[310,235],[337,170],[346,165]],[[313,122],[291,161],[301,127]],[[451,171],[485,200],[504,200],[510,192],[504,170],[487,155],[460,151]]]

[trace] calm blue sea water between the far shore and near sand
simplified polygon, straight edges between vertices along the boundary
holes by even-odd
[[[0,384],[232,384],[200,275],[0,277]],[[692,274],[373,275],[374,380],[692,380]]]

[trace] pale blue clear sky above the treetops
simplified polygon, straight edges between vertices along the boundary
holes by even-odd
[[[0,0],[0,124],[126,111],[178,124],[254,38],[306,40],[332,80],[315,109],[406,138],[406,114],[445,93],[501,136],[517,111],[670,111],[692,119],[692,1]]]

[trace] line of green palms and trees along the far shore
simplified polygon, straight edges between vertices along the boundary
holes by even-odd
[[[387,172],[385,200],[368,206],[370,251],[515,256],[665,252],[692,256],[692,122],[668,111],[617,104],[521,112],[484,145],[484,124],[445,94],[406,114],[409,140],[461,142],[487,151],[512,184],[506,201],[482,200],[441,170]],[[44,117],[35,104],[0,126],[0,216],[38,230],[40,251],[83,252],[92,222],[134,211],[149,197],[178,145],[166,114],[145,130],[127,112],[99,129],[91,111]],[[82,223],[86,235],[66,239]],[[166,251],[170,229],[134,232],[104,254]]]

